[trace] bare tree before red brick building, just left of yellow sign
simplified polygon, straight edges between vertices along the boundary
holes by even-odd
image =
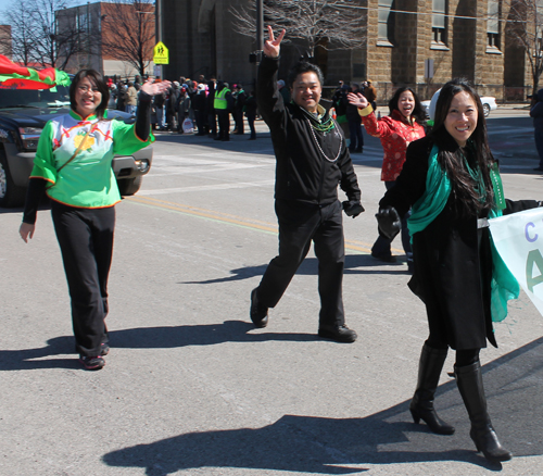
[[[143,75],[154,47],[154,1],[112,0],[103,15],[102,52]]]

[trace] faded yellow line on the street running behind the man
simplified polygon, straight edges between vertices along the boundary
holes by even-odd
[[[241,226],[250,229],[257,229],[261,231],[277,235],[278,227],[268,222],[262,222],[258,220],[247,218],[242,216],[231,215],[229,213],[216,212],[212,210],[201,209],[192,205],[185,205],[182,203],[171,202],[167,200],[161,200],[152,197],[144,196],[131,196],[125,197],[125,201],[139,203],[142,205],[153,206],[163,210],[172,210],[178,213],[185,213],[187,215],[199,216],[202,218],[220,222],[220,223],[229,223],[231,225]],[[364,241],[357,240],[345,240],[345,248],[353,251],[359,251],[364,254],[367,254],[371,250],[371,245],[368,245]],[[402,250],[395,250],[396,253],[402,253]]]

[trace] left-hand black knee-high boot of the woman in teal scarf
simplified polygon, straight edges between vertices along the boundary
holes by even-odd
[[[433,349],[422,346],[418,364],[417,389],[409,404],[415,423],[426,422],[430,430],[439,435],[453,435],[454,427],[443,422],[433,408],[433,397],[438,388],[441,371],[445,363],[447,349]]]

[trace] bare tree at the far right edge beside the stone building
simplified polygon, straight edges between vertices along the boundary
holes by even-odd
[[[543,73],[543,0],[504,1],[508,8],[505,35],[526,51],[533,80],[533,93]]]

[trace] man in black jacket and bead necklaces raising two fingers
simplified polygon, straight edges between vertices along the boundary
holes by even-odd
[[[256,100],[269,126],[276,155],[275,208],[279,222],[279,255],[270,262],[251,293],[251,320],[265,327],[268,308],[280,300],[314,242],[318,259],[320,313],[318,335],[353,342],[356,333],[345,326],[342,280],[345,259],[342,205],[338,185],[345,191],[349,216],[364,211],[361,190],[342,131],[319,105],[323,73],[310,63],[292,70],[292,103],[277,90],[281,32],[269,40],[258,67]]]

